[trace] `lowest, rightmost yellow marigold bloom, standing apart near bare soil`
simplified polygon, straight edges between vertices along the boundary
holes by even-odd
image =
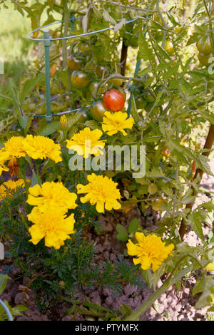
[[[130,256],[137,256],[133,262],[135,265],[141,264],[143,270],[148,270],[153,266],[155,272],[174,249],[173,244],[165,246],[165,242],[161,241],[161,237],[155,234],[145,236],[143,232],[136,232],[136,240],[138,243],[133,244],[131,239],[128,240],[126,247]]]

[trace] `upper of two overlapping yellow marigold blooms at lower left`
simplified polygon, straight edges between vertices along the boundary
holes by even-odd
[[[29,205],[38,206],[40,212],[46,212],[49,208],[58,208],[66,213],[68,209],[76,208],[77,196],[71,193],[62,182],[44,182],[29,188],[29,197],[26,202]]]

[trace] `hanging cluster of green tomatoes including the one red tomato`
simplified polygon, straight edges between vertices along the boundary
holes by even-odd
[[[71,50],[67,64],[71,71],[71,88],[83,90],[82,97],[91,101],[91,116],[98,121],[103,119],[106,110],[123,110],[126,93],[121,88],[123,78],[117,63],[104,65],[91,58],[91,46],[86,41],[78,42]],[[112,77],[103,84],[106,78]],[[116,76],[117,78],[113,78]],[[93,99],[96,100],[93,100]]]

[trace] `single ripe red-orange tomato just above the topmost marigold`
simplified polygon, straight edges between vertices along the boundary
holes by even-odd
[[[103,103],[108,109],[113,110],[113,112],[118,112],[123,109],[125,98],[116,88],[111,88],[111,90],[103,94]]]

